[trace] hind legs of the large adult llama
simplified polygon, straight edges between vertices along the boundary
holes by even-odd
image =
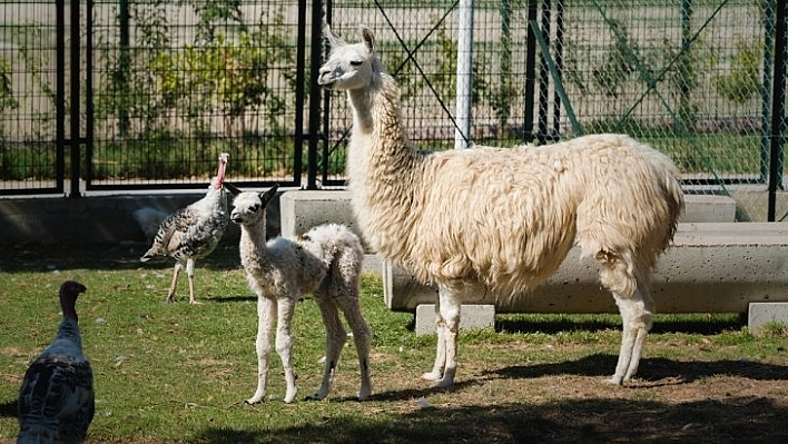
[[[648,278],[637,272],[630,253],[605,251],[598,254],[597,259],[602,264],[600,280],[613,294],[621,313],[621,349],[615,373],[608,379],[620,385],[638,371],[646,336],[652,325],[654,303],[648,289]]]

